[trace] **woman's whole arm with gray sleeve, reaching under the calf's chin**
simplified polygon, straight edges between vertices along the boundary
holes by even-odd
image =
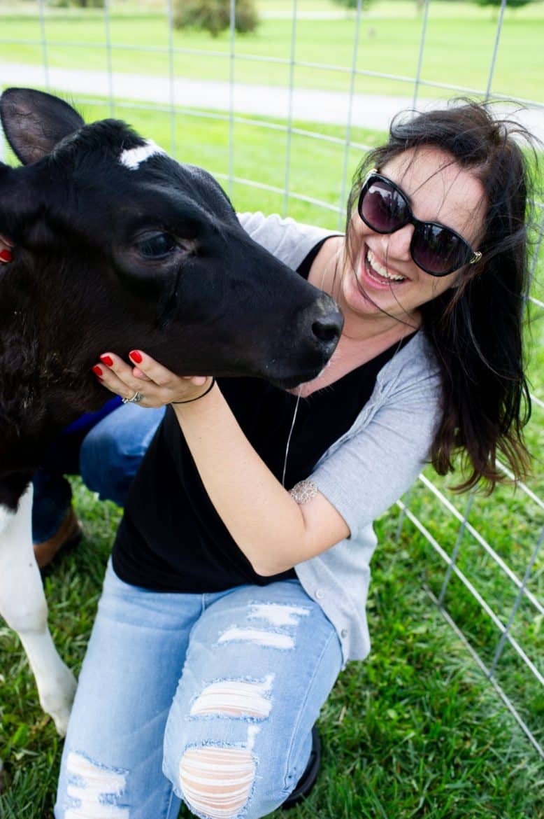
[[[423,337],[387,365],[359,428],[317,464],[308,477],[320,491],[300,506],[250,446],[218,387],[200,399],[209,379],[178,378],[141,355],[153,381],[110,355],[106,386],[124,396],[142,391],[144,406],[198,399],[175,406],[178,421],[218,514],[260,574],[284,571],[350,534],[357,539],[407,491],[428,458],[442,391]]]

